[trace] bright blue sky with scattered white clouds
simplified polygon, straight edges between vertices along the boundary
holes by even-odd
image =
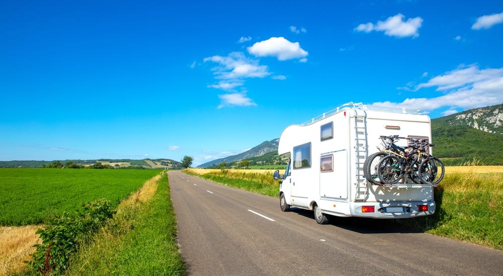
[[[503,102],[501,1],[4,1],[0,160],[194,158],[347,102]]]

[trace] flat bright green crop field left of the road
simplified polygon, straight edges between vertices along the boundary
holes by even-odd
[[[0,169],[0,225],[46,222],[81,203],[106,198],[115,206],[158,170]]]

